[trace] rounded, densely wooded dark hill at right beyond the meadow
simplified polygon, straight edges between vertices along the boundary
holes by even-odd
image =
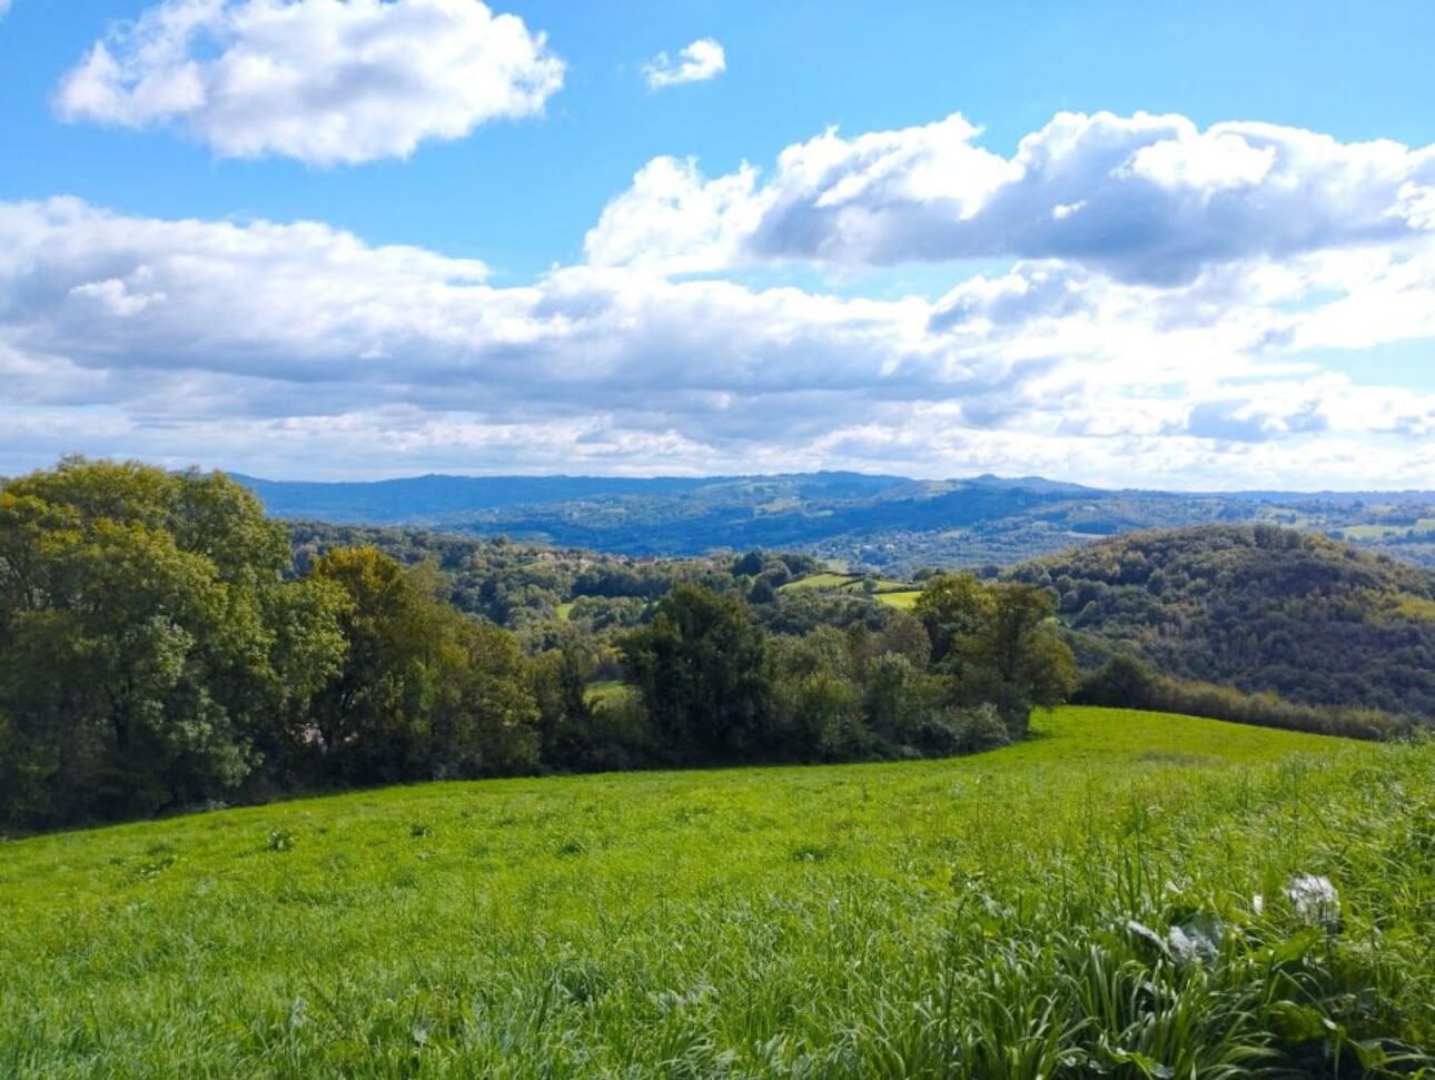
[[[1269,526],[1149,532],[1027,564],[1078,651],[1292,701],[1435,717],[1435,574]]]

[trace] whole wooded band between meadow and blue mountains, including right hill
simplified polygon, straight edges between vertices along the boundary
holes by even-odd
[[[1435,719],[1435,574],[1313,535],[1144,534],[1006,577],[822,571],[291,529],[222,475],[70,459],[0,488],[0,825],[966,753],[1022,739],[1078,658],[1101,704],[1360,737]]]

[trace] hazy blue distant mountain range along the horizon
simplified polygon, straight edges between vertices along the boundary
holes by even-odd
[[[1435,492],[1105,491],[1039,476],[913,480],[851,472],[235,479],[278,518],[504,534],[629,555],[784,548],[910,572],[1010,565],[1152,528],[1270,522],[1435,567]]]

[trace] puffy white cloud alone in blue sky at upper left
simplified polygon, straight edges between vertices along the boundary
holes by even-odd
[[[541,113],[563,75],[542,33],[479,0],[165,0],[95,43],[56,110],[339,165]]]

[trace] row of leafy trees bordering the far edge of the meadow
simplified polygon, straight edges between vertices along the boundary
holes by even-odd
[[[881,618],[782,594],[765,625],[746,595],[791,577],[781,559],[639,581],[636,598],[606,595],[621,592],[616,569],[580,582],[587,617],[616,618],[601,633],[514,633],[459,610],[456,577],[432,561],[366,544],[296,559],[287,528],[220,473],[76,458],[9,480],[0,823],[445,777],[963,753],[1020,739],[1075,684],[1055,597],[1029,584],[936,575],[913,614]],[[596,696],[603,676],[626,688]]]

